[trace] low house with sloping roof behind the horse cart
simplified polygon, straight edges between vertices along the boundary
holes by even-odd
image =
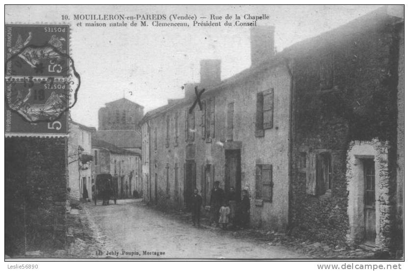
[[[118,181],[118,197],[133,197],[133,191],[140,190],[139,180],[142,174],[141,155],[119,148],[106,141],[92,138],[92,175],[111,174]]]

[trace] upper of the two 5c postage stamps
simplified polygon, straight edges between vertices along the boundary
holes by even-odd
[[[68,25],[5,25],[5,76],[68,76]]]

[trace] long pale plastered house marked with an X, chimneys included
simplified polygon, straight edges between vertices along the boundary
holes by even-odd
[[[201,61],[201,82],[186,84],[185,98],[148,112],[141,121],[143,176],[148,200],[188,208],[194,188],[209,205],[214,181],[251,195],[251,224],[288,224],[290,73],[274,57],[274,27],[252,29],[252,67],[220,81],[219,60]],[[199,105],[189,113],[196,96]],[[149,159],[147,158],[149,156]],[[145,177],[146,178],[146,177]]]

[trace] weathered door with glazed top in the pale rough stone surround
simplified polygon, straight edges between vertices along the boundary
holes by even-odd
[[[364,213],[365,213],[365,241],[375,242],[375,162],[373,159],[363,160],[364,177]]]

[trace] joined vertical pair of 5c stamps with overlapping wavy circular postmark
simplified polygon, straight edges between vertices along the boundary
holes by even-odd
[[[69,25],[5,25],[5,133],[66,135],[79,74]]]

